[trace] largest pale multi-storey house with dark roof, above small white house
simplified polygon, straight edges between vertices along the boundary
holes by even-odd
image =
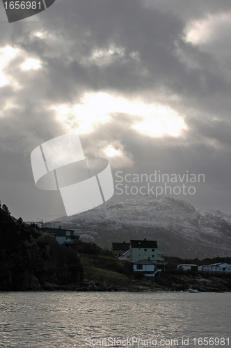
[[[131,240],[130,241],[130,262],[138,262],[141,260],[148,260],[154,264],[163,265],[164,253],[157,247],[157,241],[152,240]]]

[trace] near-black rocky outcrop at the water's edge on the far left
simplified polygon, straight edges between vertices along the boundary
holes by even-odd
[[[63,290],[83,279],[81,260],[55,237],[0,209],[0,290]]]

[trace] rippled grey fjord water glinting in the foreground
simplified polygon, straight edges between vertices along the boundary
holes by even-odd
[[[132,338],[139,347],[154,347],[153,340],[155,347],[206,347],[198,338],[225,338],[207,347],[231,345],[230,293],[1,292],[0,299],[4,348],[94,347],[95,339],[104,339],[95,347],[132,347]]]

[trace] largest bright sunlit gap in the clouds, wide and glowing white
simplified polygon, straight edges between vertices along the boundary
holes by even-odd
[[[182,129],[186,129],[182,117],[167,106],[126,100],[108,93],[86,93],[79,104],[51,108],[56,110],[58,120],[68,131],[77,127],[80,134],[88,134],[98,125],[110,122],[111,115],[115,113],[131,116],[130,128],[149,136],[179,136]],[[141,120],[133,122],[134,116],[139,116]]]

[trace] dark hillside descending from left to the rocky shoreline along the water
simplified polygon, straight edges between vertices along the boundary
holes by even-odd
[[[175,271],[177,262],[189,260],[169,258],[166,272],[152,283],[134,274],[130,262],[94,244],[61,246],[52,235],[16,220],[0,206],[0,291],[230,291],[230,275],[184,274]]]

